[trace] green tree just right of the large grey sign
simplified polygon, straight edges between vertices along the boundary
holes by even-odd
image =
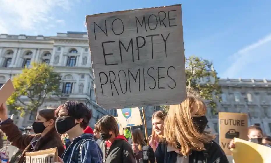
[[[209,60],[196,56],[185,58],[187,92],[197,92],[200,98],[207,101],[208,106],[215,114],[217,102],[221,102],[221,86],[218,84],[219,77]],[[209,78],[210,77],[210,78]],[[205,81],[202,81],[205,80]],[[206,81],[207,80],[207,81]],[[201,81],[201,82],[200,82]],[[162,106],[168,110],[169,106]]]

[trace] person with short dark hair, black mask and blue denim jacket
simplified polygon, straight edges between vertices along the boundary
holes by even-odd
[[[77,101],[67,101],[57,108],[56,129],[59,134],[68,134],[72,143],[67,146],[59,162],[64,163],[102,163],[102,151],[94,141],[93,135],[84,133],[92,117],[91,110]]]

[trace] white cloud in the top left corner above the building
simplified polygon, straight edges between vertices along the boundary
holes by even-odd
[[[36,30],[44,24],[52,26],[55,8],[70,9],[68,0],[0,0],[0,4],[0,34],[14,27]]]

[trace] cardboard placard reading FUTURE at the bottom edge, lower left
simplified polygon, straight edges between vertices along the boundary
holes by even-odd
[[[26,152],[25,163],[54,163],[58,162],[57,148],[40,150],[37,152]]]

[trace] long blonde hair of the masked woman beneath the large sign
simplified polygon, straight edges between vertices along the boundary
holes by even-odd
[[[200,133],[193,124],[191,113],[205,115],[206,105],[194,96],[188,96],[180,105],[170,105],[164,123],[164,137],[168,145],[180,148],[182,155],[188,155],[190,149],[205,150],[204,143],[213,139],[210,132]],[[178,146],[179,144],[180,146]]]

